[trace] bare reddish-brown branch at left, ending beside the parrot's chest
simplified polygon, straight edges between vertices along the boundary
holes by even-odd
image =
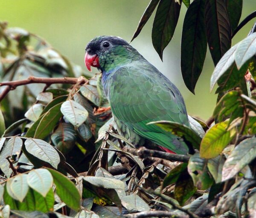
[[[88,80],[83,76],[80,76],[79,78],[73,78],[73,77],[48,78],[48,77],[29,76],[29,78],[27,79],[9,81],[9,82],[0,82],[0,86],[5,86],[5,85],[7,86],[3,90],[3,92],[0,93],[0,102],[3,100],[3,98],[7,95],[9,91],[14,90],[17,86],[20,86],[20,85],[27,85],[31,83],[44,83],[48,86],[56,83],[83,85],[84,83],[87,83],[87,82]]]

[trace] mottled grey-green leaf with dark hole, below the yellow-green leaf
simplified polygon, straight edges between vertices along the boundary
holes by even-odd
[[[198,189],[207,190],[209,187],[211,187],[213,179],[209,175],[207,160],[200,158],[199,153],[195,153],[190,157],[188,172]]]

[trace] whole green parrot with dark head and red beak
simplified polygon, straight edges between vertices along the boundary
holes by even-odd
[[[189,119],[177,87],[135,48],[120,37],[96,37],[86,46],[84,62],[89,71],[93,66],[102,73],[119,134],[136,145],[151,141],[172,153],[188,153],[182,139],[147,125],[167,120],[189,127]]]

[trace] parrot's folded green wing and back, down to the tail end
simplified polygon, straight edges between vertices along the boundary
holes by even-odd
[[[175,153],[187,153],[183,142],[148,122],[169,120],[189,126],[180,92],[153,65],[128,65],[112,77],[109,101],[114,116],[139,135]]]

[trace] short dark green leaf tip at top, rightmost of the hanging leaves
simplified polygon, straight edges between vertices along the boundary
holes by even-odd
[[[239,24],[242,8],[243,8],[243,0],[236,0],[236,1],[227,0],[227,12],[228,12],[228,17],[230,19],[232,32],[234,32],[237,25]]]

